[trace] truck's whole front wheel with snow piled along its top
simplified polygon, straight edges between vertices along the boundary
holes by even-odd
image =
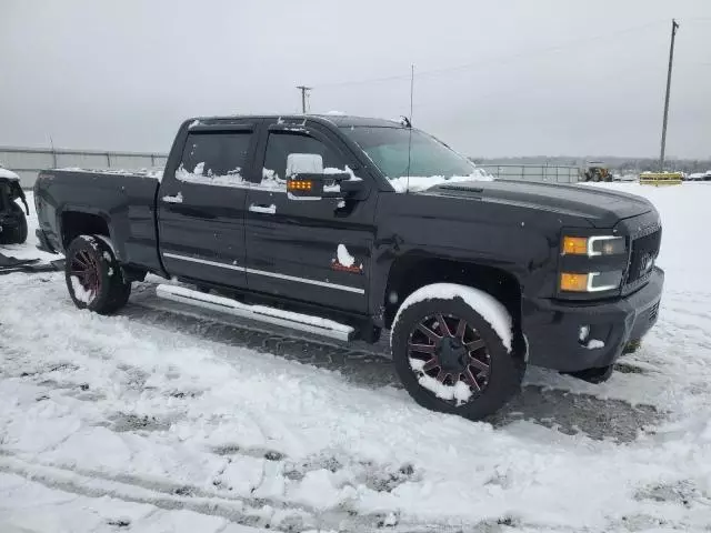
[[[490,294],[451,283],[413,292],[392,328],[392,356],[422,406],[479,420],[521,386],[523,358],[512,351],[512,320]]]

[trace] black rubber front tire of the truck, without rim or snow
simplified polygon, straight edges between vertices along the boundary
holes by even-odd
[[[464,319],[484,341],[485,350],[490,356],[490,374],[487,386],[467,403],[460,405],[442,400],[422,386],[420,384],[421,374],[418,375],[410,364],[408,343],[411,332],[424,318],[437,313]],[[408,393],[423,408],[458,414],[470,420],[481,420],[497,412],[521,389],[521,381],[525,372],[523,354],[509,352],[491,324],[461,298],[430,299],[407,306],[397,316],[391,344],[398,376]]]

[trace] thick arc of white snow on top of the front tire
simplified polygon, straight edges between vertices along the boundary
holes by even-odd
[[[497,335],[499,335],[499,339],[501,339],[505,349],[509,352],[511,351],[513,342],[513,322],[511,320],[511,315],[507,311],[507,308],[484,291],[480,291],[473,286],[458,285],[455,283],[433,283],[414,291],[405,299],[404,302],[402,302],[402,305],[395,315],[395,320],[392,323],[393,325],[391,331],[394,331],[395,324],[398,323],[402,312],[409,306],[425,300],[453,300],[455,298],[461,298],[464,303],[481,314],[481,316],[489,322],[491,328],[493,328],[493,331],[497,332]]]

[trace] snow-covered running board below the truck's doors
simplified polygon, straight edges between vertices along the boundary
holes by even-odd
[[[320,316],[310,316],[308,314],[282,311],[281,309],[264,305],[247,305],[230,298],[207,294],[204,292],[186,289],[184,286],[160,284],[156,288],[156,294],[166,300],[197,305],[242,319],[251,319],[259,322],[291,328],[292,330],[306,331],[339,341],[350,341],[354,331],[350,325]]]

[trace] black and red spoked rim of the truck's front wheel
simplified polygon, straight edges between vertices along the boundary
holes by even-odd
[[[484,340],[465,319],[453,314],[437,313],[418,322],[408,339],[408,358],[419,378],[431,378],[444,386],[468,386],[471,391],[468,401],[475,399],[489,384],[491,354]],[[420,380],[425,386],[423,383]],[[437,395],[441,398],[441,394]],[[445,401],[461,404],[451,399]]]

